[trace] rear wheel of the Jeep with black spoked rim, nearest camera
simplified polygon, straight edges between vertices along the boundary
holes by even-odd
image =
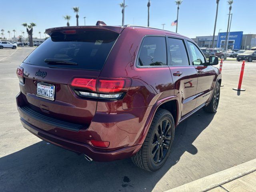
[[[165,127],[164,131],[161,131],[160,125]],[[159,136],[159,132],[161,132],[164,137]],[[153,172],[159,170],[170,154],[173,140],[174,119],[172,114],[168,110],[159,109],[154,115],[142,147],[132,156],[132,162],[146,171]],[[162,156],[161,159],[159,159],[160,156]]]

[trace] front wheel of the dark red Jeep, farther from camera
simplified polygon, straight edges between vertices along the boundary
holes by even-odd
[[[217,111],[219,101],[220,101],[220,83],[217,82],[212,99],[207,106],[203,107],[203,110],[208,113],[215,113]]]

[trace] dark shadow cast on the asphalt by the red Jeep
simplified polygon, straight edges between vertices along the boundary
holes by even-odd
[[[0,158],[0,191],[152,191],[184,152],[198,152],[192,143],[213,118],[214,114],[199,110],[184,120],[176,128],[171,154],[158,172],[137,168],[130,159],[88,162],[83,156],[38,142]],[[182,179],[179,177],[176,179]]]

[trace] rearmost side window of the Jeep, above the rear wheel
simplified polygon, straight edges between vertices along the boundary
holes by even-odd
[[[165,37],[148,36],[144,38],[137,61],[138,66],[167,65]]]

